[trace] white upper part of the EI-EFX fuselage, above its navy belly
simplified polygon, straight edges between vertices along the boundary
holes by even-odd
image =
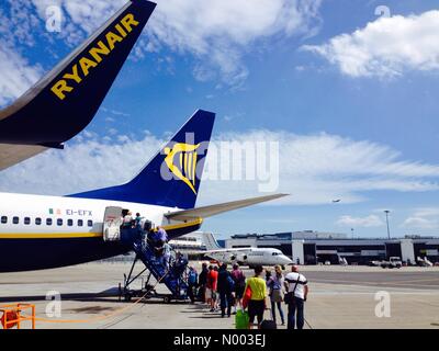
[[[130,202],[0,193],[0,238],[70,233],[102,235],[108,206],[130,210],[133,216],[139,213],[155,225],[169,225],[164,214],[178,210]]]

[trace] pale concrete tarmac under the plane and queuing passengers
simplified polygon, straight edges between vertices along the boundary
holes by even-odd
[[[222,318],[219,312],[211,313],[201,303],[164,303],[161,298],[120,301],[117,286],[130,267],[123,262],[99,262],[0,273],[0,305],[34,304],[37,329],[235,328],[234,316]],[[439,329],[439,268],[308,265],[301,267],[301,272],[309,286],[305,304],[307,329]],[[251,271],[245,273],[250,276]],[[157,291],[167,292],[161,284]],[[54,292],[60,294],[60,305],[46,299]],[[283,310],[286,316],[285,305]],[[57,312],[60,314],[56,315]],[[266,317],[269,315],[267,312]],[[30,324],[22,327],[29,328]],[[278,328],[285,327],[278,325]]]

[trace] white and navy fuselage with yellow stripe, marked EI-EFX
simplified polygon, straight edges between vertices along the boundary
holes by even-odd
[[[122,254],[126,242],[104,240],[109,206],[139,213],[169,238],[196,230],[202,219],[172,222],[178,208],[130,202],[0,193],[0,272],[58,268]],[[121,213],[122,214],[122,213]]]

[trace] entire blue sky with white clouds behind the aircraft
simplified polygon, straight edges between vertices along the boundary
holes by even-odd
[[[3,1],[1,105],[122,3]],[[45,30],[50,4],[63,11],[60,33]],[[385,3],[387,18],[375,14],[381,4],[158,1],[93,122],[63,155],[3,171],[0,191],[65,194],[127,180],[201,107],[217,113],[216,139],[278,141],[278,191],[291,193],[206,219],[204,229],[227,236],[353,228],[376,237],[386,235],[389,208],[392,235],[438,235],[439,11],[435,1],[394,0]],[[95,165],[108,165],[115,147],[130,155],[120,159],[128,165],[102,174]],[[200,203],[263,194],[254,182],[206,181]]]

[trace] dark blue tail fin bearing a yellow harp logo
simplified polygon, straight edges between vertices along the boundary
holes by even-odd
[[[196,111],[128,183],[69,196],[193,208],[214,120],[214,113]]]

